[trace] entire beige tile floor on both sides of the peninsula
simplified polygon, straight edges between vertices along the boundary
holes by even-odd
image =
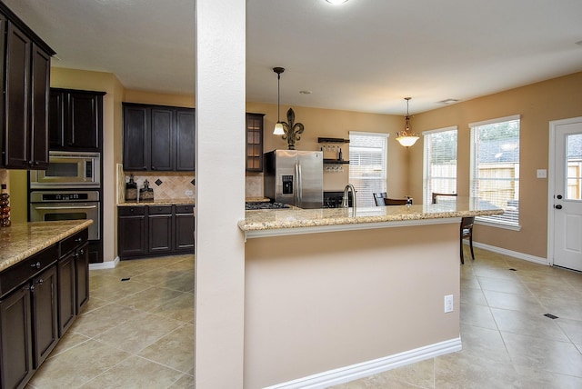
[[[461,265],[461,352],[336,389],[582,388],[582,274],[476,257]],[[91,271],[90,303],[28,387],[193,388],[193,288],[193,255]]]

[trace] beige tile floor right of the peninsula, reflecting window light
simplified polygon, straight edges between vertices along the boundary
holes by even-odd
[[[461,265],[462,351],[335,388],[582,388],[582,274],[475,256]]]

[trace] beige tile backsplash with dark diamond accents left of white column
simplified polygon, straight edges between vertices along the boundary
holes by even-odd
[[[156,200],[194,198],[196,195],[196,179],[189,172],[124,172],[122,185],[119,187],[124,194],[125,183],[132,174],[138,188],[143,188],[146,180],[149,182]]]

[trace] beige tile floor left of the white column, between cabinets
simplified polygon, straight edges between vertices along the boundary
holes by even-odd
[[[194,255],[122,261],[90,283],[27,388],[194,388]]]

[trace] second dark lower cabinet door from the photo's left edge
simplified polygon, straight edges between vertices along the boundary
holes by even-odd
[[[33,278],[33,356],[35,368],[55,348],[58,342],[56,311],[56,266]]]

